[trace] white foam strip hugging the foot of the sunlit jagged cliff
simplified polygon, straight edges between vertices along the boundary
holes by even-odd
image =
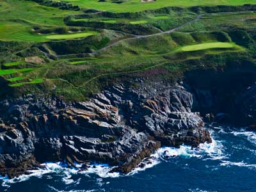
[[[201,158],[205,159],[213,159],[219,160],[223,159],[225,156],[223,155],[223,145],[220,141],[215,141],[212,139],[212,143],[202,143],[198,148],[191,148],[190,146],[181,145],[180,148],[174,147],[163,147],[159,148],[154,154],[150,157],[143,159],[141,163],[132,170],[131,173],[127,175],[133,175],[135,173],[147,170],[148,168],[152,168],[156,164],[161,163],[161,161],[168,161],[169,158],[179,156],[182,158]],[[79,180],[72,179],[72,175],[74,174],[84,174],[90,177],[91,174],[96,174],[101,178],[106,177],[120,177],[125,176],[117,172],[111,172],[113,167],[108,166],[108,164],[90,164],[87,170],[80,170],[81,164],[76,164],[76,168],[68,168],[67,164],[63,163],[44,163],[42,164],[45,168],[30,171],[29,175],[21,175],[19,177],[15,177],[14,179],[3,179],[3,185],[12,184],[15,182],[26,181],[31,177],[40,178],[47,173],[57,173],[57,175],[62,176],[62,181],[65,184],[77,184]]]

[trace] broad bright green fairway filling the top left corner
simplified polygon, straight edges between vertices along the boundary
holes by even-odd
[[[32,31],[33,26],[65,26],[64,17],[77,14],[70,10],[60,10],[41,6],[33,1],[0,1],[0,40],[43,42],[47,38]]]

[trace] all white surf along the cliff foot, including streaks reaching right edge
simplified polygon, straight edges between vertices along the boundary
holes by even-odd
[[[214,129],[216,128],[216,129]],[[214,131],[213,131],[214,130]],[[111,173],[110,171],[113,169],[113,167],[108,166],[108,164],[90,164],[87,170],[81,170],[81,165],[76,164],[76,168],[70,168],[65,163],[44,163],[42,165],[45,166],[44,169],[40,168],[38,170],[32,170],[30,171],[29,175],[21,175],[19,177],[15,177],[13,179],[8,179],[8,177],[0,177],[0,180],[2,180],[2,186],[4,187],[10,187],[11,184],[16,182],[23,182],[26,180],[29,180],[31,177],[47,177],[51,179],[51,174],[54,173],[55,175],[58,175],[61,177],[61,181],[65,185],[70,184],[79,184],[81,179],[74,179],[72,175],[77,174],[83,174],[88,177],[90,175],[98,175],[100,178],[115,178],[115,177],[125,177],[134,175],[138,172],[143,172],[147,170],[148,168],[152,168],[153,166],[156,166],[157,164],[165,161],[168,162],[170,159],[173,159],[173,157],[177,158],[195,158],[195,159],[202,159],[202,161],[214,161],[218,164],[218,167],[223,166],[243,166],[247,168],[256,168],[256,164],[249,164],[241,162],[233,162],[229,159],[229,154],[226,152],[226,148],[223,146],[223,143],[225,141],[218,140],[218,134],[233,134],[233,136],[243,136],[244,139],[247,139],[248,141],[251,141],[253,143],[256,143],[256,133],[255,132],[246,132],[246,131],[228,131],[225,132],[220,127],[213,127],[213,129],[210,129],[211,136],[212,136],[212,143],[202,143],[197,148],[191,148],[187,145],[181,145],[180,148],[174,148],[174,147],[162,147],[159,148],[154,154],[152,154],[150,157],[147,157],[146,159],[143,159],[138,166],[132,170],[131,173],[127,175],[123,175],[121,173]],[[216,137],[217,136],[217,137]],[[206,165],[207,167],[207,165]],[[0,175],[1,176],[1,175]],[[51,190],[54,191],[52,188]],[[83,190],[82,190],[83,191]],[[79,191],[79,192],[82,192]],[[200,189],[191,189],[191,191],[200,191]],[[73,191],[70,191],[73,192]]]

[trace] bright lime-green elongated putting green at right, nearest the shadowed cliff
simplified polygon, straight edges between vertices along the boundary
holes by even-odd
[[[228,49],[228,48],[235,48],[237,47],[236,44],[230,42],[211,42],[211,43],[204,43],[204,44],[196,44],[196,45],[188,45],[182,47],[182,51],[200,51],[205,49]]]

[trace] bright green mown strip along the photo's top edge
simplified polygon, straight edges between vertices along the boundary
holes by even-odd
[[[59,0],[54,0],[59,1]],[[79,5],[81,8],[93,8],[110,12],[139,12],[142,10],[163,8],[166,6],[214,6],[214,5],[241,5],[256,4],[255,0],[157,0],[151,3],[142,3],[140,0],[129,0],[124,3],[112,3],[111,0],[61,0]]]

